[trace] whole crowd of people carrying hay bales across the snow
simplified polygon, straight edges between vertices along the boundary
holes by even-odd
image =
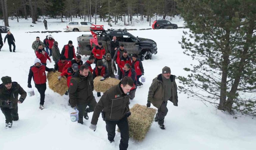
[[[99,115],[106,123],[108,140],[114,142],[115,126],[117,125],[121,132],[119,149],[126,150],[129,141],[129,126],[127,117],[131,115],[129,111],[130,100],[134,99],[137,86],[143,84],[139,78],[144,74],[142,62],[138,55],[129,57],[124,45],[119,45],[116,37],[110,43],[111,51],[106,54],[102,43],[98,43],[92,50],[93,56],[83,64],[80,55],[76,55],[72,41],[64,45],[60,52],[58,43],[51,35],[46,36],[43,42],[39,37],[32,44],[32,49],[36,54],[34,65],[30,67],[28,76],[28,87],[31,88],[33,78],[35,87],[40,93],[40,109],[44,109],[44,99],[46,90],[46,72],[61,72],[58,80],[63,76],[67,77],[69,104],[72,109],[79,110],[78,123],[83,124],[83,118],[89,119],[88,113],[93,112],[90,129],[96,130]],[[45,49],[49,49],[49,51]],[[50,55],[49,55],[50,54]],[[51,62],[50,56],[55,62],[54,68],[47,68],[47,59]],[[105,58],[103,59],[103,56]],[[103,60],[102,60],[103,59]],[[95,63],[92,69],[91,64]],[[117,67],[116,67],[116,64]],[[101,81],[111,77],[114,78],[118,72],[118,78],[121,82],[111,87],[100,97],[99,102],[93,95],[93,79],[101,76]],[[17,82],[12,82],[11,77],[4,76],[1,78],[0,85],[0,108],[6,118],[6,127],[12,126],[12,121],[18,120],[18,103],[22,103],[26,98],[26,92]],[[18,99],[18,94],[20,98]],[[158,122],[160,129],[165,129],[164,118],[167,115],[167,102],[171,101],[177,106],[177,85],[175,76],[171,75],[171,69],[164,67],[162,74],[153,79],[149,87],[147,98],[147,107],[151,104],[157,107],[157,115],[154,121]]]

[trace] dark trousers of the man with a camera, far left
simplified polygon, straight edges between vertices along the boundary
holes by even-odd
[[[5,116],[5,123],[13,123],[13,121],[19,120],[18,104],[14,104],[13,109],[1,107],[1,111]]]

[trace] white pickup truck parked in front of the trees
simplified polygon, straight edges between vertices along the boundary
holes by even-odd
[[[93,23],[87,21],[71,21],[67,24],[66,31],[90,31]]]

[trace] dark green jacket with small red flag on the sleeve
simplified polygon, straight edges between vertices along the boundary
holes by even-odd
[[[87,103],[88,97],[93,94],[93,88],[93,75],[90,71],[87,77],[81,76],[79,70],[75,72],[68,90],[71,107]]]

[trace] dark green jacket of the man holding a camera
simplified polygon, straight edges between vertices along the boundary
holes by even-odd
[[[12,87],[10,92],[6,89],[6,87],[1,84],[0,85],[0,107],[2,106],[3,101],[13,101],[13,104],[18,104],[18,96],[21,97],[19,99],[25,100],[27,93],[23,90],[23,88],[17,83],[12,82]]]

